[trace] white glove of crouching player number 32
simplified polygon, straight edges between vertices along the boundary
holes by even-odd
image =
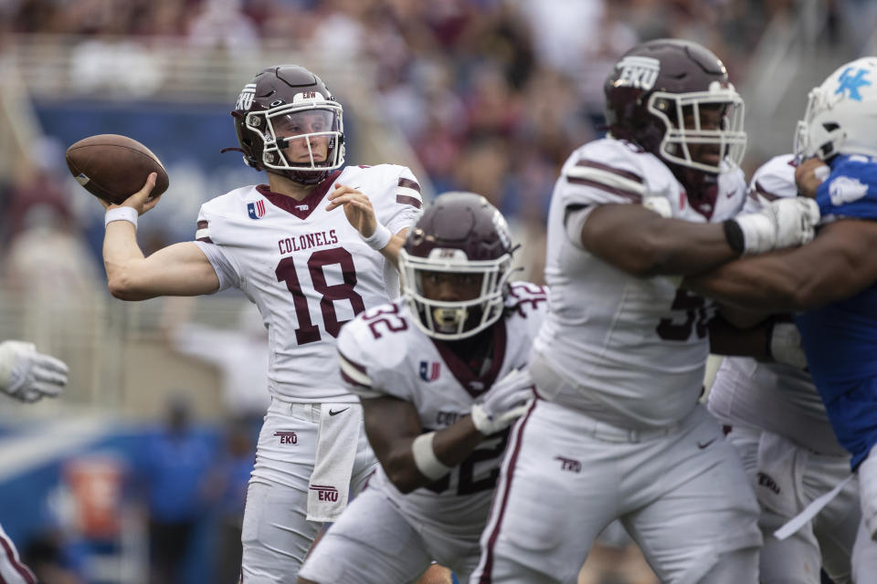
[[[472,404],[472,423],[485,436],[505,430],[527,411],[534,399],[534,382],[527,370],[512,370]]]

